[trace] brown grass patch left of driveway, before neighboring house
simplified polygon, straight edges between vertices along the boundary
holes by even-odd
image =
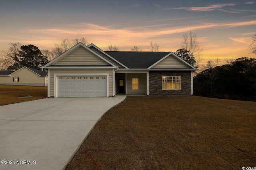
[[[0,106],[43,99],[46,98],[46,96],[47,87],[0,85]]]

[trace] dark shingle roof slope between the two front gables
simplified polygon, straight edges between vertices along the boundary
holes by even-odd
[[[105,51],[128,68],[148,68],[170,52]]]

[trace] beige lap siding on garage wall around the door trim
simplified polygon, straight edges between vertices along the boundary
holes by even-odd
[[[113,79],[113,69],[50,69],[50,97],[54,97],[54,74],[97,74],[108,73]],[[109,96],[113,96],[113,81],[109,81]]]

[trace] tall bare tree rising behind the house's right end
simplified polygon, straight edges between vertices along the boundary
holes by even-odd
[[[202,58],[200,58],[200,53],[203,48],[200,47],[198,43],[197,34],[189,31],[188,33],[184,33],[182,35],[182,39],[183,41],[181,47],[186,49],[186,51],[190,51],[191,57],[195,59],[196,64],[198,65],[198,63],[202,61]]]

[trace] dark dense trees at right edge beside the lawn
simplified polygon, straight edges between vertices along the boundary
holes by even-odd
[[[256,101],[256,59],[242,57],[222,66],[208,62],[194,77],[194,95]]]

